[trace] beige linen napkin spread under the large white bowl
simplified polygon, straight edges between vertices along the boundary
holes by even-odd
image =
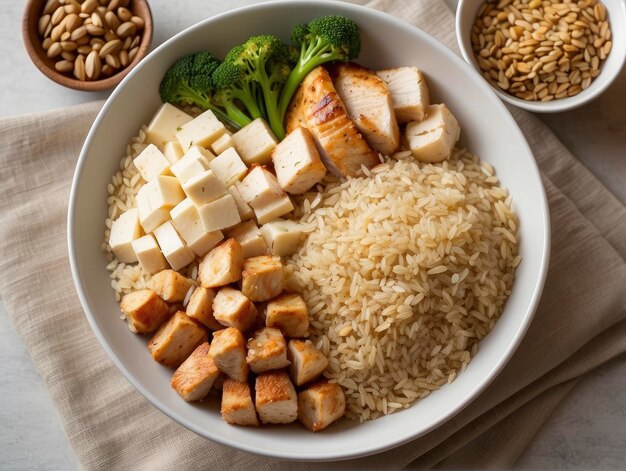
[[[453,47],[441,0],[382,0]],[[100,348],[71,281],[66,211],[101,102],[0,120],[0,297],[87,469],[290,469],[205,440],[151,406]],[[376,456],[299,468],[504,467],[581,375],[626,351],[626,208],[535,117],[514,112],[542,170],[552,256],[535,319],[488,389],[446,424]],[[94,268],[95,269],[95,268]]]

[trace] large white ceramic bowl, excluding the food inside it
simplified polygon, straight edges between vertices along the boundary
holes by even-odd
[[[343,421],[312,434],[297,424],[264,429],[223,422],[215,401],[188,404],[170,388],[172,371],[151,360],[146,339],[128,331],[109,287],[100,251],[107,183],[137,134],[158,108],[158,85],[177,58],[200,49],[218,56],[258,33],[285,39],[299,22],[327,14],[356,20],[360,62],[372,68],[419,65],[436,102],[463,127],[463,145],[494,165],[521,219],[521,255],[513,293],[495,329],[467,370],[449,386],[402,412],[365,424]],[[469,404],[498,374],[526,331],[541,295],[549,252],[548,207],[530,149],[502,102],[459,57],[401,20],[375,10],[328,1],[258,4],[207,19],[151,53],[113,92],[81,152],[69,205],[68,244],[78,294],[96,336],[126,378],[171,418],[212,440],[249,452],[293,460],[337,460],[372,454],[419,437]]]

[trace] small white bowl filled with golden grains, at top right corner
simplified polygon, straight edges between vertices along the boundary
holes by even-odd
[[[463,57],[500,98],[538,113],[599,96],[626,58],[623,0],[461,0]]]

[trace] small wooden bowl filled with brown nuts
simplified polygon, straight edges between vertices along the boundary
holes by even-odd
[[[64,87],[115,87],[152,41],[146,0],[29,0],[22,38],[33,64]]]

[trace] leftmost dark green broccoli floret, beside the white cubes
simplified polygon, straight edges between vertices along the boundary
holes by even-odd
[[[250,123],[251,119],[245,113],[227,113],[226,106],[216,103],[212,76],[219,65],[220,61],[206,51],[179,59],[165,72],[161,80],[161,100],[211,110],[222,121],[236,128]]]

